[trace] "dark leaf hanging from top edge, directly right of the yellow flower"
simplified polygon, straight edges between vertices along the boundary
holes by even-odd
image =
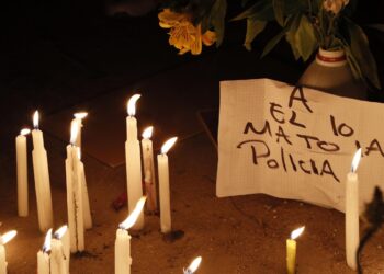
[[[227,12],[227,1],[216,0],[211,9],[210,21],[216,33],[216,46],[223,43],[225,31],[225,14]]]

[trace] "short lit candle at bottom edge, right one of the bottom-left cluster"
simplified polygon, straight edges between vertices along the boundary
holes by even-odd
[[[64,244],[64,236],[67,233],[67,226],[60,227],[54,233],[50,241],[50,274],[68,274],[69,273],[69,256],[67,256],[67,247]]]

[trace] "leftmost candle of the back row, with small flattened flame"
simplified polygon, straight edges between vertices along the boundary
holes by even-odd
[[[18,214],[21,217],[29,215],[29,175],[26,157],[26,137],[29,128],[24,128],[16,137],[16,170],[18,170]]]

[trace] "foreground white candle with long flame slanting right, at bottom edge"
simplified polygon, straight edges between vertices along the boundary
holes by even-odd
[[[136,207],[132,210],[129,216],[120,224],[116,230],[115,240],[115,274],[131,273],[131,236],[128,229],[135,224],[143,212],[146,197],[139,198]]]

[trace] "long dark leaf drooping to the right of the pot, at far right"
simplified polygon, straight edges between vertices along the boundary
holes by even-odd
[[[381,89],[376,62],[370,50],[369,42],[364,32],[352,21],[347,20],[347,23],[350,36],[351,55],[359,64],[362,73],[371,81],[373,85]]]

